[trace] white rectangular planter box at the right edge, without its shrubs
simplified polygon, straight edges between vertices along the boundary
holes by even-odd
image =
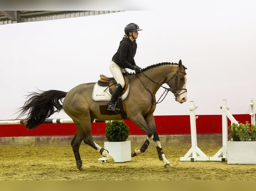
[[[228,164],[256,164],[256,141],[228,141]]]

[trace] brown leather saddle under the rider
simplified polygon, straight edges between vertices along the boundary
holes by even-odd
[[[127,90],[127,88],[128,88],[128,85],[129,85],[129,78],[128,78],[128,76],[123,75],[123,77],[124,77],[125,85],[124,85],[123,90],[122,90],[121,93],[120,93],[120,96],[123,95],[123,94],[126,92],[126,90]],[[117,82],[116,82],[116,80],[115,80],[113,77],[107,77],[107,76],[105,76],[105,75],[103,75],[103,74],[100,75],[100,80],[98,80],[97,84],[98,84],[99,86],[108,86],[108,88],[109,88],[109,93],[110,93],[111,95],[112,95],[114,89],[115,89],[116,86],[117,86]],[[108,88],[106,88],[106,90],[107,90]],[[106,90],[105,90],[105,91],[106,91]],[[104,91],[104,92],[105,92],[105,91]]]

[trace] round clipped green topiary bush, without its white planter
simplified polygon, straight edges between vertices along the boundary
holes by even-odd
[[[108,122],[105,129],[106,137],[110,142],[126,141],[129,137],[129,127],[123,120],[114,120]]]

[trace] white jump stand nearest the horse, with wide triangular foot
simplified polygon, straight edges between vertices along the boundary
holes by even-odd
[[[209,157],[203,153],[200,148],[197,146],[197,127],[196,127],[196,117],[195,110],[198,107],[195,107],[194,101],[189,102],[189,111],[190,111],[190,130],[191,130],[191,145],[192,147],[187,151],[184,157],[180,157],[180,161],[209,161]],[[192,155],[192,156],[191,156]],[[190,157],[191,156],[191,157]]]

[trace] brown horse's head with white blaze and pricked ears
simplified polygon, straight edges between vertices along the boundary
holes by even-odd
[[[174,77],[167,82],[171,89],[171,92],[175,96],[175,101],[183,103],[187,100],[187,89],[186,89],[186,72],[185,67],[182,65],[181,60],[179,60],[178,70]]]

